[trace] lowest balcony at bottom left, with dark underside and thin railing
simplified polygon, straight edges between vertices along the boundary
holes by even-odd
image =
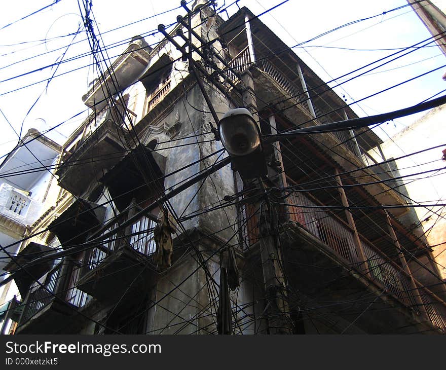
[[[35,286],[28,294],[17,334],[56,334],[69,332],[77,312],[88,301],[86,293],[71,284],[66,288],[63,264],[56,265],[46,276],[42,286]],[[71,270],[71,272],[74,270]]]

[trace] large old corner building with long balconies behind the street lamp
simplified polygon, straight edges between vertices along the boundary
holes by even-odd
[[[27,241],[57,252],[27,265],[38,281],[16,333],[441,334],[430,249],[367,154],[381,140],[359,129],[264,144],[264,192],[243,183],[221,165],[212,108],[248,107],[264,135],[357,116],[248,9],[224,21],[198,1],[190,14],[193,32],[185,17],[159,45],[134,38],[83,97],[91,114]],[[163,209],[170,264],[156,252]],[[235,282],[220,271],[228,250]]]

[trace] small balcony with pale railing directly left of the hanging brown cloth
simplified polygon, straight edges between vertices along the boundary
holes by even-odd
[[[131,205],[118,217],[118,227],[134,209]],[[154,216],[143,216],[126,229],[89,249],[80,270],[78,288],[100,302],[112,303],[126,293],[134,293],[147,284],[153,271],[150,258],[156,250]],[[104,233],[103,233],[104,234]]]

